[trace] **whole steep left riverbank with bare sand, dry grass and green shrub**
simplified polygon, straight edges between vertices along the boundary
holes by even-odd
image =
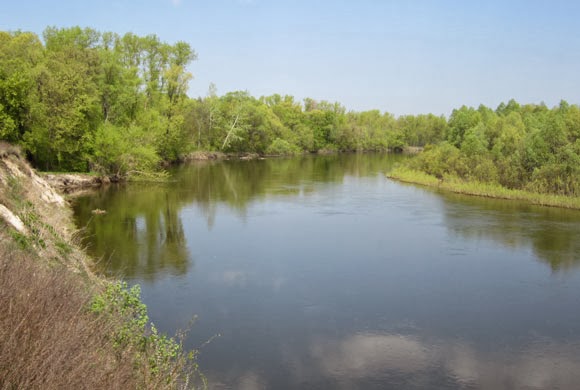
[[[105,280],[72,211],[0,145],[0,389],[193,386],[195,353],[149,323],[139,288]]]

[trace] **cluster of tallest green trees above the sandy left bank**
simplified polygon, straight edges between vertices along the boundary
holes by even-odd
[[[187,147],[187,43],[79,27],[0,32],[0,139],[45,170],[128,173]]]

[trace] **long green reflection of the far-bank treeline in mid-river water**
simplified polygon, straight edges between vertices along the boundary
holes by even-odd
[[[345,176],[384,172],[400,156],[331,155],[251,161],[195,162],[175,173],[177,185],[204,210],[208,224],[223,203],[245,216],[249,203],[265,196],[298,195],[314,183],[341,183]]]

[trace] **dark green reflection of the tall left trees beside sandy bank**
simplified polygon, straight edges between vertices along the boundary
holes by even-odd
[[[91,210],[107,210],[93,216]],[[76,220],[85,226],[88,251],[109,274],[152,280],[159,273],[185,274],[189,267],[180,203],[159,186],[128,186],[79,198]]]

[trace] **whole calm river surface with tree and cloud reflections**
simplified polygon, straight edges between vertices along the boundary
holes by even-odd
[[[160,329],[198,317],[212,389],[580,388],[580,213],[397,183],[400,158],[195,163],[76,220]]]

